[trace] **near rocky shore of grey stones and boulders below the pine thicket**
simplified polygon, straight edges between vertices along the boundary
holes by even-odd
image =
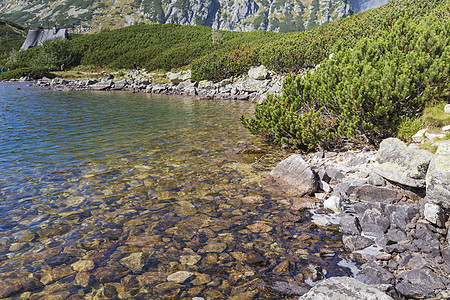
[[[349,259],[361,264],[356,280],[325,279],[300,299],[449,299],[449,164],[448,142],[433,155],[389,138],[379,151],[296,154],[277,165],[272,179],[298,195],[313,191],[328,210],[313,222],[338,223]]]

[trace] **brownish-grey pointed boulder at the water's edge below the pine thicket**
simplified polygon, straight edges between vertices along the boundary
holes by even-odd
[[[303,196],[317,189],[317,180],[311,167],[300,154],[294,154],[281,161],[270,176],[286,188],[286,192]]]

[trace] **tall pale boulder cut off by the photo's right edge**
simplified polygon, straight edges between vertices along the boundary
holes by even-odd
[[[450,209],[450,142],[439,145],[428,168],[427,198],[431,203]]]

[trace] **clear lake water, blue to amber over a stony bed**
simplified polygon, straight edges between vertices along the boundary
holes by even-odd
[[[265,188],[287,153],[242,128],[252,111],[0,83],[0,298],[296,299],[350,274],[336,228]]]

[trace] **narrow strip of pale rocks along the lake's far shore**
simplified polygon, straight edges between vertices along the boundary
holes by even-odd
[[[228,78],[218,83],[209,80],[192,81],[190,70],[163,75],[136,70],[117,78],[111,78],[114,75],[109,77],[76,80],[42,78],[34,81],[33,85],[56,91],[127,91],[261,103],[267,94],[281,93],[284,79],[284,76],[269,71],[264,66],[251,68],[245,75]],[[23,77],[20,81],[32,80]]]

